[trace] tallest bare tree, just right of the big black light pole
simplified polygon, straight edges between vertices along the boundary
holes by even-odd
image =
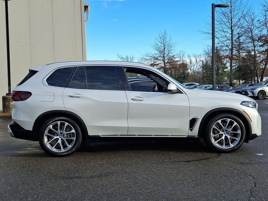
[[[243,0],[224,0],[221,3],[229,4],[228,8],[215,10],[215,38],[219,49],[225,51],[230,65],[230,85],[233,85],[233,61],[236,49],[236,39],[241,33],[244,24],[244,14],[248,11],[248,2]],[[211,21],[206,22],[207,31],[201,31],[211,37]]]

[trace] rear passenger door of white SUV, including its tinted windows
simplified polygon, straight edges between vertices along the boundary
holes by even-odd
[[[65,110],[79,115],[89,135],[126,135],[128,102],[118,66],[77,66],[63,91]]]

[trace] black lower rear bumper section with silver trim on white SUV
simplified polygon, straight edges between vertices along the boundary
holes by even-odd
[[[13,124],[12,122],[8,125],[8,132],[11,137],[15,137],[23,140],[38,141],[37,137],[33,135],[33,131],[24,129],[18,124]]]

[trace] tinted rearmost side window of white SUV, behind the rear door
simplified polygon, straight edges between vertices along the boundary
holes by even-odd
[[[74,67],[59,68],[55,70],[47,79],[46,82],[50,86],[65,87]]]

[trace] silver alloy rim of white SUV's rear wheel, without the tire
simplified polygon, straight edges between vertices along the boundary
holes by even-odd
[[[69,150],[75,143],[75,139],[75,129],[64,121],[51,123],[44,132],[44,143],[54,152]]]

